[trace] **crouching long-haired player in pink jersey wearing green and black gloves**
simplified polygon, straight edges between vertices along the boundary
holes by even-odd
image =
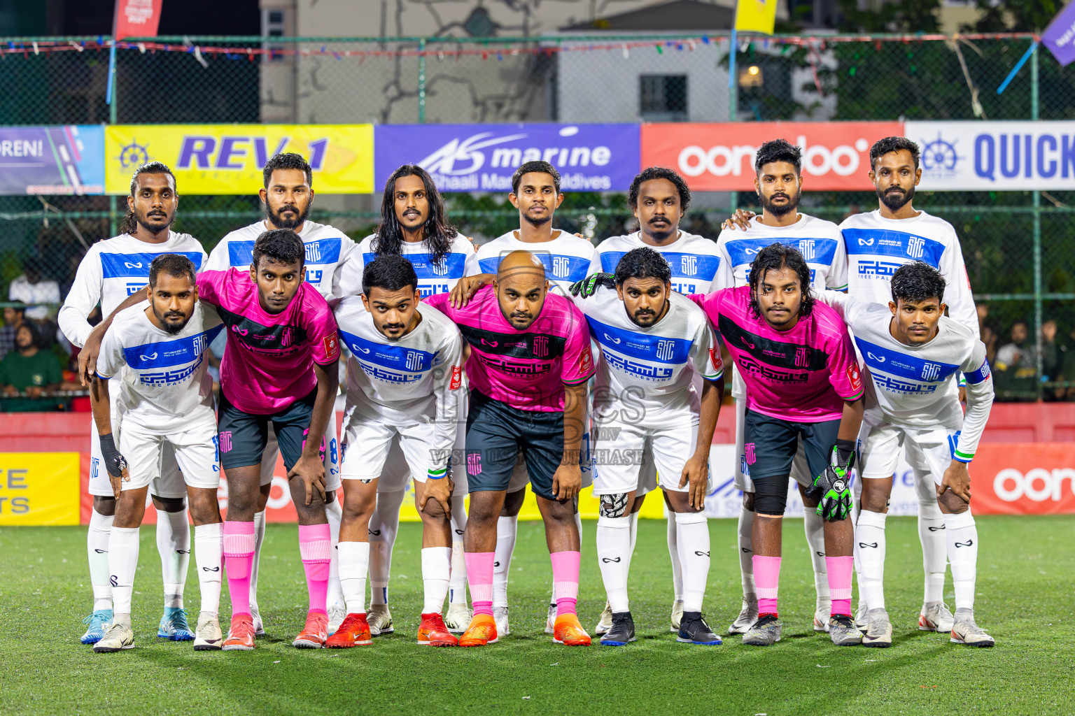
[[[693,296],[717,326],[747,386],[746,462],[755,486],[754,576],[758,620],[743,643],[780,639],[776,611],[780,530],[799,440],[826,518],[825,554],[834,644],[859,644],[851,622],[852,528],[848,471],[862,423],[863,385],[847,326],[817,304],[806,261],[790,246],[758,252],[749,286]]]

